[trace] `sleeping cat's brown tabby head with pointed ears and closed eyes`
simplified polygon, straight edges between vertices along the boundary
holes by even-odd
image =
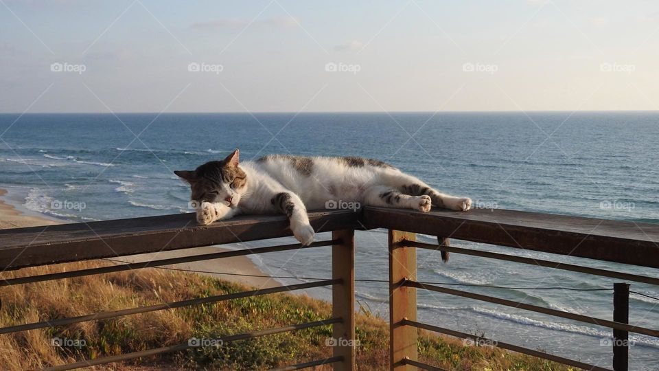
[[[174,174],[189,183],[192,201],[235,207],[247,189],[247,175],[238,166],[239,156],[240,152],[234,150],[222,161],[209,161],[195,170],[176,170]]]

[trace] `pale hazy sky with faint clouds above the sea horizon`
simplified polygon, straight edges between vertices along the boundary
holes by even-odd
[[[659,2],[0,0],[0,112],[659,108]]]

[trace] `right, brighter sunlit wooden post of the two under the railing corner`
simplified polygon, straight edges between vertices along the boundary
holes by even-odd
[[[417,280],[417,250],[402,240],[415,241],[416,234],[389,229],[389,363],[391,370],[411,371],[417,368],[401,361],[417,361],[417,328],[400,322],[417,320],[417,289],[400,283]]]

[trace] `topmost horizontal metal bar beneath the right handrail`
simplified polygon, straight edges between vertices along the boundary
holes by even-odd
[[[406,240],[402,244],[406,245],[406,246],[411,246],[411,247],[420,247],[421,249],[429,249],[429,250],[436,250],[436,251],[448,251],[448,252],[452,252],[452,253],[456,253],[456,254],[481,256],[483,258],[507,260],[507,261],[510,261],[510,262],[520,262],[522,264],[539,265],[540,267],[548,267],[548,268],[553,268],[553,269],[563,269],[565,271],[588,273],[588,274],[592,274],[594,276],[619,278],[621,280],[628,280],[628,281],[634,281],[634,282],[643,282],[643,283],[647,283],[647,284],[659,285],[659,278],[639,276],[637,274],[623,273],[623,272],[617,272],[617,271],[609,271],[607,269],[582,267],[581,265],[565,264],[565,263],[562,263],[562,262],[552,262],[552,261],[549,261],[549,260],[539,260],[539,259],[534,259],[534,258],[524,258],[522,256],[514,256],[514,255],[508,255],[508,254],[498,254],[498,253],[491,252],[491,251],[465,249],[465,248],[462,248],[462,247],[439,246],[439,245],[435,245],[435,244],[432,244],[432,243],[420,243],[420,242],[417,242],[417,241],[407,241]]]

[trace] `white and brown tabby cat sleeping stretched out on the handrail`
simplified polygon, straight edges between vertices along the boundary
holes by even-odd
[[[331,208],[338,201],[420,212],[429,212],[432,205],[457,211],[472,206],[469,198],[442,194],[389,164],[361,157],[268,155],[240,162],[236,149],[222,161],[174,174],[189,183],[200,224],[243,213],[282,213],[303,245],[312,243],[315,234],[307,209]]]

